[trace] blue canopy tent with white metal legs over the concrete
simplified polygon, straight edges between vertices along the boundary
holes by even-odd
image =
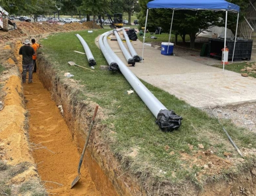
[[[165,8],[165,9],[172,9],[173,16],[172,16],[172,23],[170,24],[170,34],[169,34],[169,41],[172,32],[172,25],[173,25],[173,18],[174,18],[174,11],[175,10],[211,10],[211,11],[226,11],[226,20],[225,20],[225,37],[224,37],[224,47],[226,46],[226,33],[227,33],[227,12],[236,12],[238,13],[239,18],[239,10],[240,7],[224,0],[154,0],[147,3],[147,11],[146,11],[146,23],[145,23],[145,31],[143,37],[143,49],[142,49],[142,62],[143,62],[143,53],[144,53],[144,43],[145,43],[145,34],[146,34],[146,24],[147,24],[147,16],[148,16],[148,9],[153,8]],[[236,37],[237,37],[237,30],[238,30],[238,19],[237,19],[237,28],[236,28],[236,35],[234,41],[234,48],[236,47]],[[169,49],[169,47],[168,47]],[[168,53],[168,51],[167,51]],[[233,56],[234,56],[234,49],[233,49]],[[225,59],[225,53],[224,53]],[[233,62],[233,57],[232,57]],[[223,71],[224,71],[224,60],[223,60]]]

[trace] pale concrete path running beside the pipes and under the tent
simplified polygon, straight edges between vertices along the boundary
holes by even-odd
[[[120,50],[117,41],[109,40],[109,43],[114,51]],[[137,40],[132,44],[141,56],[143,43]],[[127,64],[121,52],[116,54]],[[150,46],[144,46],[143,63],[136,62],[135,67],[129,68],[138,78],[196,107],[256,102],[256,78],[242,77],[227,70],[223,72],[177,56],[164,56]]]

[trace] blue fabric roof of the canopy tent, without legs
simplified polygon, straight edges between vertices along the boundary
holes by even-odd
[[[169,8],[190,10],[228,10],[239,12],[240,7],[224,0],[154,0],[147,3],[147,8]]]

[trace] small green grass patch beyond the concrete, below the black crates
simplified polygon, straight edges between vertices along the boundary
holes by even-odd
[[[227,65],[225,65],[225,70],[229,70],[229,71],[237,72],[237,73],[247,73],[248,76],[256,78],[256,73],[255,72],[248,72],[246,70],[241,71],[242,69],[245,69],[247,67],[251,68],[251,66],[254,64],[254,62],[253,63],[247,63],[247,64],[246,63],[247,62],[227,64]],[[214,65],[214,67],[223,69],[222,64],[216,64],[216,65]]]

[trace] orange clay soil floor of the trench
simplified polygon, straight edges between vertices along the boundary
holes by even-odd
[[[36,74],[33,74],[33,81],[32,84],[24,84],[24,94],[30,114],[29,134],[34,149],[33,157],[42,183],[45,183],[47,191],[54,195],[101,195],[83,165],[80,170],[82,178],[70,189],[77,176],[80,159],[77,146],[72,141],[69,128],[58,107]],[[63,186],[44,181],[56,182]]]

